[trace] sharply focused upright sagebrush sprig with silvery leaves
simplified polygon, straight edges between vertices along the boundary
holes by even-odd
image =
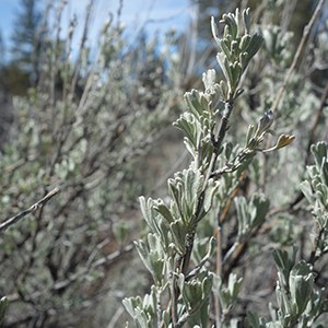
[[[219,199],[223,202],[229,197],[224,188],[216,196],[221,187],[220,178],[227,173],[236,173],[233,178],[237,181],[256,152],[260,151],[259,145],[273,121],[273,114],[268,113],[257,128],[250,126],[245,148],[237,148],[233,152],[231,143],[224,143],[234,102],[242,94],[239,81],[262,42],[260,35],[249,34],[248,15],[248,11],[244,11],[241,20],[238,10],[235,14],[223,15],[225,30],[222,39],[218,37],[218,26],[212,20],[213,35],[221,50],[218,62],[224,80],[216,83],[214,70],[204,73],[204,91],[192,90],[186,93],[188,112],[175,124],[185,132],[185,143],[194,161],[188,169],[168,179],[169,203],[166,204],[162,199],[140,199],[151,232],[145,241],[139,241],[136,245],[155,285],[152,286],[153,296],[145,297],[148,302],[142,303],[140,297],[125,300],[137,327],[181,327],[187,321],[206,327],[209,321],[212,281],[213,278],[220,281],[221,277],[207,268],[206,263],[213,251],[206,249],[206,254],[190,270],[196,229],[211,213],[213,202]],[[216,104],[219,91],[221,99]],[[282,142],[282,138],[270,150],[286,145],[292,139],[288,136],[286,142]],[[226,157],[223,167],[218,167],[220,156]],[[269,202],[261,196],[255,196],[249,204],[245,200],[239,200],[237,204],[239,233],[235,245],[262,222]],[[233,274],[230,276],[226,289],[220,282],[216,283],[218,288],[221,285],[219,297],[222,317],[227,315],[235,302],[239,284],[241,280]],[[162,304],[163,294],[169,300],[167,305]],[[156,302],[150,303],[149,300]]]

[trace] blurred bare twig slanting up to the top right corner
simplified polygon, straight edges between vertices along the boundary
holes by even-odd
[[[316,10],[315,10],[315,12],[313,14],[313,16],[311,17],[308,24],[304,27],[301,43],[300,43],[300,45],[297,47],[297,50],[295,52],[293,62],[292,62],[290,69],[288,70],[288,72],[286,72],[286,74],[284,77],[283,83],[282,83],[282,85],[281,85],[281,87],[280,87],[280,90],[279,90],[279,92],[277,94],[276,101],[274,101],[274,103],[272,105],[272,108],[271,108],[272,112],[274,112],[278,108],[279,104],[280,104],[280,101],[281,101],[282,95],[283,95],[283,93],[285,91],[286,84],[288,84],[288,82],[289,82],[289,80],[290,80],[290,78],[292,75],[292,72],[294,71],[294,69],[295,69],[295,67],[296,67],[296,65],[298,62],[298,59],[300,59],[301,54],[303,51],[304,45],[306,43],[306,38],[307,38],[307,36],[308,36],[308,34],[309,34],[309,32],[311,32],[311,30],[312,30],[315,21],[317,20],[318,15],[319,15],[319,13],[321,11],[321,8],[324,5],[324,1],[325,0],[319,0],[319,2],[317,4],[317,8],[316,8]]]

